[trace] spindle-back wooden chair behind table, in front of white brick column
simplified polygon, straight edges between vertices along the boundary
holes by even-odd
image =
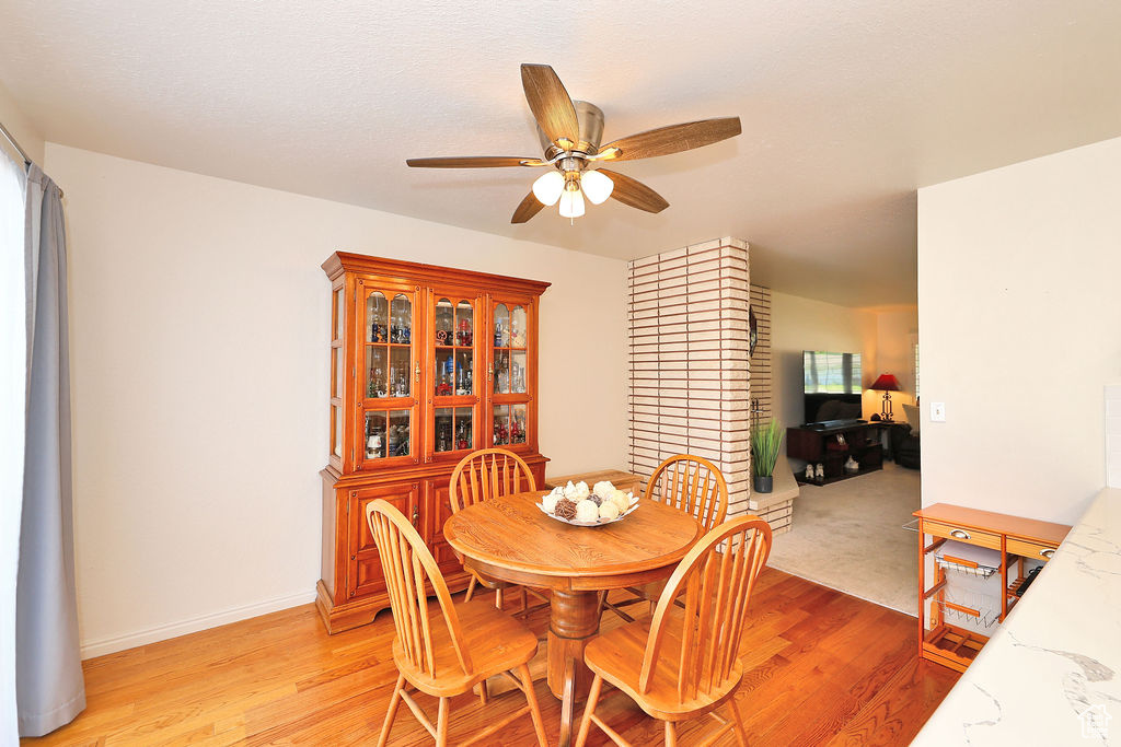
[[[707,459],[688,454],[669,457],[658,465],[646,484],[643,497],[692,514],[706,532],[723,522],[728,515],[728,482],[724,475]],[[641,588],[628,587],[629,597],[610,601],[608,595],[603,594],[601,603],[624,622],[633,623],[634,618],[621,608],[646,603],[651,606],[652,613],[652,603],[658,598],[661,588],[661,583],[650,583]]]

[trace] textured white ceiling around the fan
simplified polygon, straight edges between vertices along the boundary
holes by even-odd
[[[538,171],[405,159],[537,156],[524,62],[605,139],[743,134],[620,164],[659,215],[512,226]],[[55,142],[619,258],[734,235],[758,281],[882,305],[915,300],[917,187],[1121,136],[1121,2],[0,0],[0,81]]]

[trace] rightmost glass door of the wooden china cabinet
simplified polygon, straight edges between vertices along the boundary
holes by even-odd
[[[529,339],[531,302],[495,300],[491,305],[490,436],[494,446],[517,447],[532,441],[529,433],[529,403],[532,392],[532,349]]]

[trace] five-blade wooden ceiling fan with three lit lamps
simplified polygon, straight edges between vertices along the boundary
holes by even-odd
[[[410,158],[417,168],[476,169],[504,166],[549,168],[534,181],[534,187],[513,212],[510,223],[525,223],[546,205],[560,203],[560,215],[577,218],[584,215],[584,197],[599,205],[614,197],[623,205],[648,213],[669,207],[661,195],[641,181],[602,164],[632,161],[679,153],[740,134],[740,118],[684,122],[647,130],[605,146],[603,112],[586,101],[573,101],[564,84],[548,65],[522,65],[521,85],[529,109],[537,120],[537,134],[545,153],[543,158],[516,156],[466,156],[451,158]]]

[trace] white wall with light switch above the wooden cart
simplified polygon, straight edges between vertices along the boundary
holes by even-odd
[[[1105,484],[1121,372],[1121,139],[918,204],[923,502],[1071,523]]]

